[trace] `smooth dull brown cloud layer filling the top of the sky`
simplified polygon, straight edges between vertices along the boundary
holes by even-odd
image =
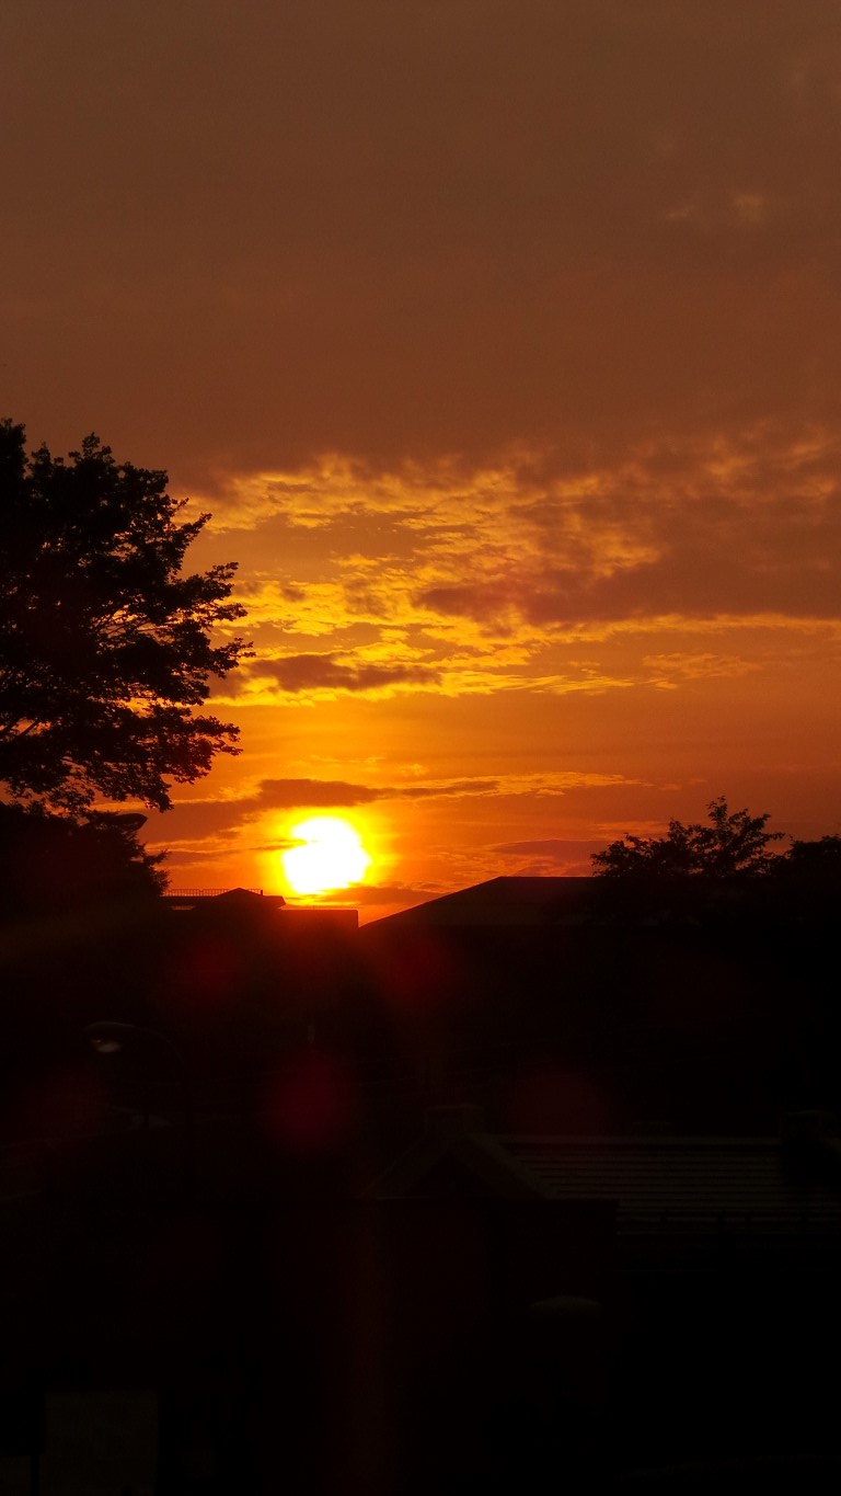
[[[3,94],[36,440],[96,410],[211,494],[336,452],[609,459],[838,387],[835,0],[94,12],[27,7]]]

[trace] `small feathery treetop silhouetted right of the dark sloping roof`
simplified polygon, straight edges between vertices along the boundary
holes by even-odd
[[[747,809],[730,811],[724,796],[707,806],[708,823],[684,824],[669,821],[665,836],[633,836],[611,842],[593,853],[596,875],[605,878],[686,878],[707,880],[754,878],[766,874],[778,856],[771,842],[783,832],[766,830],[768,812],[750,815]]]

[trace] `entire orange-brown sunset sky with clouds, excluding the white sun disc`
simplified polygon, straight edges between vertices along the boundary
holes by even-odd
[[[173,887],[841,833],[838,0],[3,0],[0,153],[0,416],[239,561]]]

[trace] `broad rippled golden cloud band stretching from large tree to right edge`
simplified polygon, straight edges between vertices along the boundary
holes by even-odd
[[[816,628],[834,652],[840,461],[837,425],[789,417],[578,467],[521,444],[487,468],[336,458],[264,477],[239,533],[255,658],[215,703],[675,691],[772,667],[760,631],[777,658]],[[302,492],[296,528],[276,506]]]

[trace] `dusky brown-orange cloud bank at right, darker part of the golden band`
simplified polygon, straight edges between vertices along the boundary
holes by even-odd
[[[808,438],[810,440],[804,440]],[[615,470],[509,492],[471,567],[438,554],[415,606],[485,628],[720,613],[838,618],[840,443],[745,431],[644,444]],[[429,558],[432,560],[432,558]]]

